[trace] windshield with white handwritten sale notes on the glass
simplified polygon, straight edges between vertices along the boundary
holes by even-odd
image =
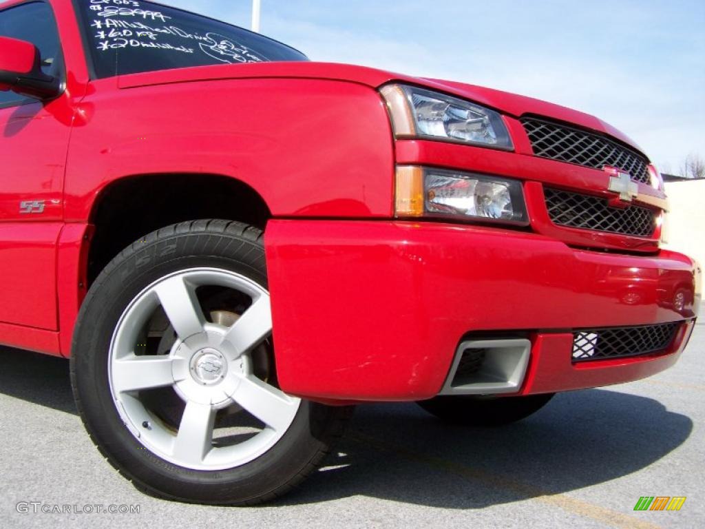
[[[142,0],[76,0],[97,78],[267,61],[300,51],[219,20]]]

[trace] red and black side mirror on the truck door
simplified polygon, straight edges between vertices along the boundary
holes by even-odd
[[[0,90],[50,99],[61,93],[61,83],[42,72],[42,58],[34,44],[0,37]]]

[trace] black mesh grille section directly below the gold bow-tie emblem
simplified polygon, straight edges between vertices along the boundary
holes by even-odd
[[[544,188],[544,195],[553,224],[639,237],[656,229],[656,212],[646,207],[610,207],[603,198],[552,188]]]

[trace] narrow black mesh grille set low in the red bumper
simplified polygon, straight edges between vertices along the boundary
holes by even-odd
[[[680,322],[641,327],[583,329],[573,334],[573,362],[605,360],[665,351]]]

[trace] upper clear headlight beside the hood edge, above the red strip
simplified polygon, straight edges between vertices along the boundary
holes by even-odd
[[[512,150],[512,140],[498,112],[423,88],[386,85],[386,99],[396,138],[430,138]]]

